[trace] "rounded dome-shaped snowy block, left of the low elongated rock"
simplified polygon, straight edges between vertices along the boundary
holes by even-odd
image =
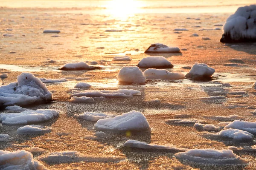
[[[119,82],[140,84],[145,82],[145,76],[138,67],[123,67],[118,75]]]

